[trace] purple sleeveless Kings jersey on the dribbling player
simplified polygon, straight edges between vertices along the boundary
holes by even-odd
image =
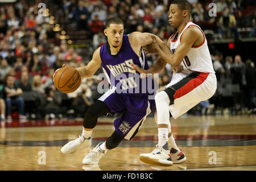
[[[154,94],[152,76],[140,78],[140,73],[132,70],[132,63],[142,69],[148,69],[148,64],[143,49],[141,57],[133,51],[128,35],[123,35],[122,46],[117,55],[111,55],[109,43],[107,42],[101,47],[100,56],[103,71],[110,85],[115,87],[116,92],[133,96]]]

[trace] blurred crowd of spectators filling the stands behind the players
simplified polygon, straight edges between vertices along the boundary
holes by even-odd
[[[238,27],[250,27],[248,36],[255,36],[255,15],[246,14],[255,1],[211,1],[217,5],[217,16],[208,14],[209,1],[190,0],[192,21],[203,30],[213,30],[220,38],[240,38]],[[245,3],[246,2],[246,3]],[[81,67],[88,63],[76,49],[61,39],[48,16],[38,16],[40,1],[20,0],[3,3],[0,7],[0,111],[1,119],[26,117],[63,117],[80,115],[97,100],[97,85],[102,80],[97,76],[82,81],[80,88],[71,94],[60,93],[52,82],[52,75],[63,64]],[[152,32],[167,42],[174,28],[168,25],[170,1],[152,0],[55,0],[63,9],[65,18],[75,24],[76,30],[88,30],[93,49],[102,46],[106,37],[102,30],[107,18],[119,16],[125,22],[125,34],[133,31]],[[51,14],[51,12],[50,12]],[[242,17],[246,15],[246,20]],[[149,65],[157,59],[147,55]],[[228,77],[239,84],[247,98],[245,105],[255,107],[251,98],[255,96],[255,68],[253,61],[241,56],[221,57],[221,52],[212,55],[218,80]],[[234,61],[233,61],[234,60]],[[172,69],[167,67],[160,73],[159,87],[170,82]],[[247,84],[246,84],[247,83]],[[250,98],[249,98],[250,96]],[[207,107],[209,103],[206,104]],[[78,107],[79,106],[79,107]],[[35,115],[27,115],[27,113]]]

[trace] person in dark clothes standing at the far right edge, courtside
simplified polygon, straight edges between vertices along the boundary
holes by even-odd
[[[245,78],[246,78],[246,106],[253,109],[256,105],[253,104],[253,98],[256,96],[256,69],[253,62],[248,59],[245,62]]]

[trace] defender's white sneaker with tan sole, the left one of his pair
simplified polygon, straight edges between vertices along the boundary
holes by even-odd
[[[172,158],[169,150],[164,150],[163,147],[156,145],[156,148],[149,154],[139,155],[139,159],[147,164],[157,164],[160,166],[172,166]]]

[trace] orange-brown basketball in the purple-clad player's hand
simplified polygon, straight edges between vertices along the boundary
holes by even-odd
[[[79,88],[81,76],[75,68],[66,66],[55,73],[54,84],[60,92],[71,93]]]

